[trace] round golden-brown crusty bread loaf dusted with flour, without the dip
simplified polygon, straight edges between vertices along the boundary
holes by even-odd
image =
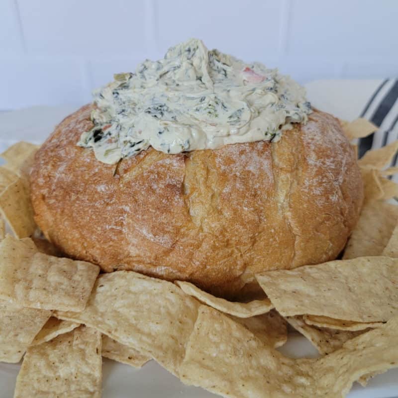
[[[91,110],[63,120],[37,152],[31,195],[46,237],[104,271],[232,297],[254,273],[334,259],[358,219],[355,154],[329,114],[313,112],[278,143],[148,149],[116,166],[76,145]]]

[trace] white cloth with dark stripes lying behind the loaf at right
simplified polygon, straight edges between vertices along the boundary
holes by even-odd
[[[311,103],[337,117],[365,117],[379,130],[358,142],[359,156],[398,139],[398,79],[317,81],[306,85]],[[391,166],[398,166],[396,156]],[[398,182],[398,176],[394,179]]]

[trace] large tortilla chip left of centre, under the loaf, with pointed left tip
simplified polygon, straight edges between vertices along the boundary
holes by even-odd
[[[116,271],[99,276],[84,311],[56,316],[94,327],[178,375],[198,307],[171,282]]]

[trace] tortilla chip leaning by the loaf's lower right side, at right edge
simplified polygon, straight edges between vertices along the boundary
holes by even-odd
[[[352,231],[343,260],[380,256],[398,222],[398,206],[376,202],[364,206]]]

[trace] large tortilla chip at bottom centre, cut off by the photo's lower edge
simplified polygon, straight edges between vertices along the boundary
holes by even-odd
[[[296,396],[295,360],[264,344],[253,333],[223,313],[200,306],[181,366],[184,383],[202,387],[223,397]]]

